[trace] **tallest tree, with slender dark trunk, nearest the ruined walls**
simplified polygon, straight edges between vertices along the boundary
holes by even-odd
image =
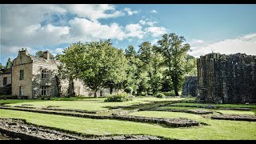
[[[186,39],[177,34],[164,34],[162,39],[158,41],[158,52],[165,59],[164,64],[168,67],[168,75],[170,76],[175,95],[182,86],[182,76],[186,73],[186,57],[187,51],[190,50],[189,44],[182,44]]]

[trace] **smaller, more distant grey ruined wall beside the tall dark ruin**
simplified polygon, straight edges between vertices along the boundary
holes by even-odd
[[[182,86],[182,96],[198,96],[198,77],[188,76]]]

